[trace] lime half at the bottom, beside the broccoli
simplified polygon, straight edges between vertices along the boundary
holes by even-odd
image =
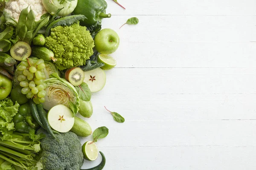
[[[92,141],[87,141],[82,146],[82,151],[84,154],[84,159],[88,161],[94,161],[98,157],[98,148],[96,144]]]

